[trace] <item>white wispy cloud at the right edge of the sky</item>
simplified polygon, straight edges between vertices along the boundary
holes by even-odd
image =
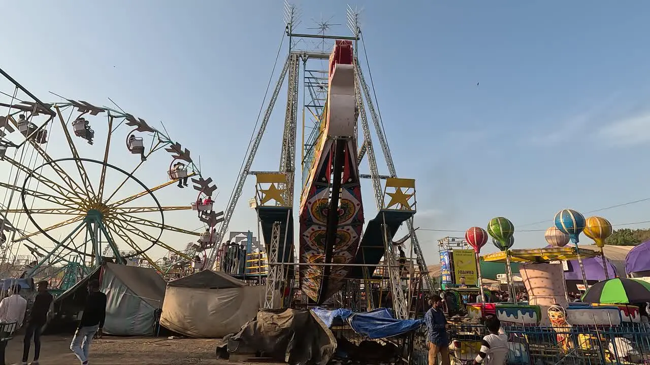
[[[609,123],[597,131],[609,145],[638,145],[650,142],[650,112]]]

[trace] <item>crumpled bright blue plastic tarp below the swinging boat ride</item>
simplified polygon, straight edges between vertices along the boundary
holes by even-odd
[[[349,309],[326,310],[319,307],[311,311],[328,327],[349,323],[356,333],[372,339],[398,336],[424,324],[422,320],[397,320],[387,308],[359,313]]]

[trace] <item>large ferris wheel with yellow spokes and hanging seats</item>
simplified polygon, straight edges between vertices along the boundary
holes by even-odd
[[[105,260],[166,273],[214,245],[223,215],[213,210],[216,186],[187,148],[119,107],[29,101],[18,88],[0,96],[5,260],[29,250],[28,277]],[[155,251],[176,259],[161,262]]]

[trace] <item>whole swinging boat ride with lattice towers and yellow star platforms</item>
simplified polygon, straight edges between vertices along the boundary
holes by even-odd
[[[285,3],[284,40],[289,43],[288,51],[242,163],[217,242],[222,242],[227,234],[246,177],[255,175],[255,208],[269,265],[266,308],[281,305],[283,300],[278,295],[291,296],[296,272],[300,273],[300,285],[296,288],[309,297],[310,303],[320,305],[341,288],[343,281],[365,283],[363,286],[369,290],[376,269],[382,268],[389,273],[396,315],[406,318],[408,307],[393,244],[393,236],[402,223],[406,223],[417,268],[428,287],[433,287],[413,228],[415,181],[399,178],[396,173],[373,89],[365,79],[359,60],[359,47],[363,47],[359,14],[348,7],[346,15],[350,35],[326,34],[332,26],[327,21],[318,24],[317,34],[309,34],[298,31],[298,9]],[[287,101],[279,168],[254,170],[255,154],[285,80]],[[299,119],[302,124],[300,159],[296,153]],[[383,175],[373,140],[378,140],[382,149],[383,170],[386,170]],[[365,162],[369,173],[359,171]],[[296,181],[298,164],[302,173]],[[361,179],[371,181],[376,208],[376,215],[367,223],[363,234]],[[296,184],[300,184],[300,192],[296,191]],[[297,239],[294,238],[296,195],[299,197]],[[298,262],[294,262],[296,240],[300,242]],[[216,261],[217,253],[213,249],[211,263]],[[367,297],[372,301],[372,296]]]

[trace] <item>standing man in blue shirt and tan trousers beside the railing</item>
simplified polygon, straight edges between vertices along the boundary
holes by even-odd
[[[431,296],[428,301],[431,308],[424,314],[427,342],[429,347],[429,365],[437,363],[438,354],[442,357],[442,365],[449,362],[449,336],[447,335],[447,319],[443,313],[443,299]]]

